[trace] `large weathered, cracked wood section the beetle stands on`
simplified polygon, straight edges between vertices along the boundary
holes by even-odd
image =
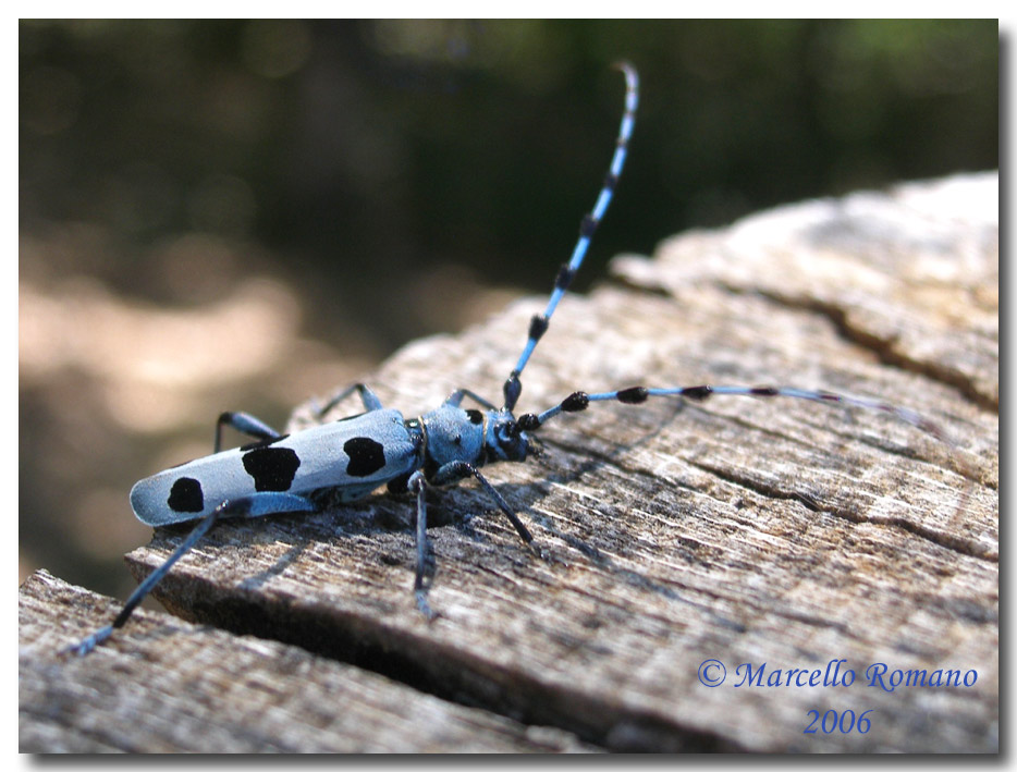
[[[539,462],[489,469],[547,560],[475,486],[442,492],[431,623],[411,592],[412,504],[385,495],[218,526],[158,597],[608,749],[995,751],[997,191],[983,174],[808,203],[622,258],[616,281],[565,298],[523,379],[520,412],[637,383],[826,388],[914,408],[954,450],[798,401],[597,404],[549,422]],[[461,385],[498,399],[542,304],[409,345],[369,381],[406,415]],[[181,538],[156,534],[132,571]],[[183,647],[194,633],[128,625],[95,659],[154,635]],[[714,688],[699,679],[711,659],[727,670]],[[785,685],[838,660],[854,684]],[[743,663],[762,685],[736,686]],[[869,685],[873,663],[887,684],[976,675],[889,691]],[[869,728],[824,733],[809,711],[828,710],[871,710]]]

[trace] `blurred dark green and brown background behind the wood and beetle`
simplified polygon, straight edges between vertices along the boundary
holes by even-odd
[[[408,340],[781,203],[998,167],[998,27],[20,24],[21,575],[123,597],[135,479]],[[520,331],[520,342],[524,331]],[[511,363],[506,363],[506,370]]]

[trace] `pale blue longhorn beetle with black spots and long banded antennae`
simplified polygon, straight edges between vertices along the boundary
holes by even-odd
[[[639,79],[630,64],[621,63],[617,68],[625,75],[625,110],[611,167],[593,210],[583,218],[579,240],[572,258],[557,272],[547,308],[530,320],[526,345],[502,389],[502,406],[495,407],[468,389],[457,389],[430,413],[404,418],[399,410],[383,407],[368,387],[357,383],[333,396],[318,415],[324,416],[354,393],[363,403],[365,413],[293,434],[281,434],[246,413],[223,413],[216,425],[212,455],[160,471],[139,481],[131,490],[131,506],[143,523],[158,527],[196,520],[197,526],[173,554],[131,595],[111,625],[102,627],[66,651],[86,654],[109,638],[114,628],[121,627],[130,618],[142,598],[218,520],[284,512],[320,512],[336,501],[363,499],[385,483],[390,490],[416,494],[414,592],[417,608],[430,618],[432,613],[427,603],[424,581],[427,488],[454,485],[468,477],[476,478],[523,541],[539,554],[529,529],[501,493],[488,482],[480,467],[497,462],[522,462],[535,455],[537,444],[530,437],[532,432],[562,413],[585,410],[592,402],[616,401],[635,405],[651,396],[685,396],[697,401],[721,394],[786,396],[890,413],[948,444],[936,425],[912,410],[879,400],[794,388],[693,385],[648,389],[637,385],[596,394],[576,391],[542,413],[513,414],[523,391],[519,380],[523,370],[537,343],[547,332],[554,309],[583,265],[590,240],[608,210],[625,163],[639,100]],[[464,408],[463,400],[467,397],[482,409]],[[256,441],[223,451],[222,429],[225,426]]]

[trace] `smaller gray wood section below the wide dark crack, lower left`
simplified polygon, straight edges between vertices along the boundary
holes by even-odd
[[[46,572],[19,593],[22,752],[548,752],[572,735],[465,708],[303,649],[143,612],[59,655],[114,608]]]

